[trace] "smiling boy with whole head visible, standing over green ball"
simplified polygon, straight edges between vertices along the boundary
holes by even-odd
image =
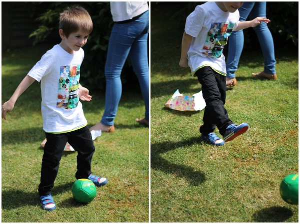
[[[61,42],[48,50],[21,81],[11,98],[2,105],[2,118],[10,112],[17,98],[36,80],[41,87],[41,113],[46,144],[41,163],[38,193],[44,210],[54,210],[51,197],[59,161],[68,142],[77,155],[76,179],[89,179],[96,186],[107,183],[106,178],[91,174],[90,164],[94,145],[84,117],[81,100],[90,101],[88,89],[79,84],[80,64],[92,31],[88,12],[79,6],[68,7],[59,17]]]

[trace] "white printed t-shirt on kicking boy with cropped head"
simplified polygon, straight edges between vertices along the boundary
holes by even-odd
[[[213,1],[196,6],[187,16],[184,31],[192,36],[187,52],[192,75],[206,65],[226,75],[223,46],[236,29],[238,19],[238,10],[233,13],[222,11]]]

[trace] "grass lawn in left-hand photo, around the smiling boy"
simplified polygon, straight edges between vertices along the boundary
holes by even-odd
[[[50,47],[2,51],[2,103]],[[104,93],[93,91],[90,95],[91,102],[82,102],[89,126],[97,123],[104,111]],[[39,144],[45,138],[40,101],[39,83],[34,82],[2,120],[1,221],[148,222],[149,129],[135,122],[144,114],[141,94],[123,93],[115,119],[116,132],[102,133],[94,140],[92,173],[106,177],[108,183],[97,188],[91,203],[77,203],[71,193],[77,153],[64,153],[52,191],[57,208],[51,212],[41,209],[37,193],[43,154]]]

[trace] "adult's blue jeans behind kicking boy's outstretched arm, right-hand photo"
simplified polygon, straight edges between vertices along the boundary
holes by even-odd
[[[245,1],[242,6],[238,9],[239,21],[245,21],[249,16],[252,20],[257,16],[266,17],[265,12],[266,2],[265,1]],[[262,50],[264,58],[264,72],[267,74],[275,74],[275,54],[274,54],[274,43],[273,37],[270,30],[268,29],[265,22],[260,23],[256,27],[253,27],[259,44]],[[226,61],[226,77],[234,78],[234,72],[237,70],[239,57],[243,48],[243,32],[241,30],[233,31],[229,36],[228,41],[228,55]]]

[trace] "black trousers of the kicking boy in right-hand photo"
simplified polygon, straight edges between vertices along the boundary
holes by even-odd
[[[195,73],[201,84],[202,95],[206,106],[203,115],[203,125],[200,133],[207,135],[213,132],[215,126],[223,136],[226,128],[232,124],[224,108],[226,99],[226,76],[214,71],[210,66],[204,66]]]

